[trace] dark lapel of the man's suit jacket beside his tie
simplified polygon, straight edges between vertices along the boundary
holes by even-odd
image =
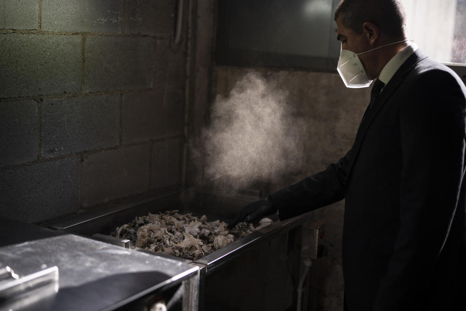
[[[383,88],[382,93],[380,93],[379,97],[375,100],[371,109],[366,110],[363,120],[359,125],[358,132],[356,134],[356,139],[354,140],[353,147],[351,148],[352,151],[352,160],[350,161],[350,166],[347,173],[347,180],[350,176],[351,170],[356,162],[356,159],[359,155],[359,150],[361,149],[361,145],[364,141],[364,137],[366,136],[367,129],[369,128],[370,124],[374,120],[374,118],[379,113],[380,109],[383,105],[387,102],[390,96],[395,92],[398,86],[403,82],[404,77],[408,72],[413,69],[413,67],[420,62],[421,60],[427,58],[420,50],[414,52],[397,70],[395,75],[390,79],[388,84]]]

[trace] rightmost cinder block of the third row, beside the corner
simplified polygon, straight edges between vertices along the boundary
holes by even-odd
[[[183,133],[184,93],[148,91],[123,94],[122,142]]]

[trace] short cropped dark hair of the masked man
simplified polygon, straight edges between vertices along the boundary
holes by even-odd
[[[369,21],[389,38],[406,38],[406,13],[400,0],[341,0],[335,10],[335,20],[340,15],[343,25],[358,34]]]

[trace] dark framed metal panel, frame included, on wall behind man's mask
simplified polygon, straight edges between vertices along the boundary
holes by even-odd
[[[231,0],[218,3],[220,65],[335,71],[336,0]]]

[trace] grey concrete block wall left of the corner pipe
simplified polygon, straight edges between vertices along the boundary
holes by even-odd
[[[0,0],[0,216],[182,183],[188,1]]]

